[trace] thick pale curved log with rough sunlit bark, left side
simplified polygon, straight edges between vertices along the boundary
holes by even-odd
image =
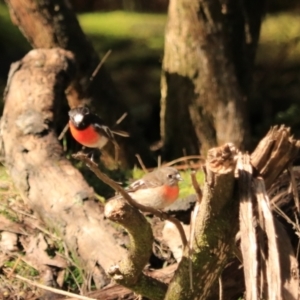
[[[23,199],[58,232],[97,286],[107,282],[103,269],[125,250],[94,201],[93,189],[64,157],[53,126],[74,58],[61,49],[32,50],[15,70],[1,120],[4,164]]]

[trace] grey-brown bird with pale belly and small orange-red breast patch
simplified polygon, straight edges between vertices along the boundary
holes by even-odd
[[[161,167],[133,182],[126,192],[137,203],[155,209],[164,209],[175,202],[179,195],[178,182],[182,178],[173,167]],[[117,195],[113,198],[121,197]]]

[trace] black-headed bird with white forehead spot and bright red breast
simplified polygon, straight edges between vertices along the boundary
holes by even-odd
[[[111,141],[118,149],[114,134],[128,137],[123,131],[111,130],[104,125],[102,119],[90,112],[86,106],[79,106],[69,111],[69,127],[74,139],[88,148],[102,149]]]

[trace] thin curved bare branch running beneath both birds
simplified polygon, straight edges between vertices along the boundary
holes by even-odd
[[[92,172],[95,173],[95,175],[102,180],[104,183],[106,183],[107,185],[109,185],[111,188],[113,188],[116,192],[120,193],[121,196],[132,206],[138,208],[139,210],[143,211],[143,212],[147,212],[147,213],[151,213],[159,218],[162,218],[164,220],[169,220],[170,222],[172,222],[178,229],[179,233],[180,233],[180,237],[182,240],[182,244],[183,247],[185,247],[187,245],[187,238],[185,236],[185,232],[183,230],[183,227],[181,225],[181,223],[174,217],[169,216],[168,214],[159,211],[157,209],[154,209],[152,207],[148,207],[148,206],[144,206],[140,203],[137,203],[136,201],[134,201],[129,195],[128,193],[121,187],[119,186],[116,182],[114,182],[112,179],[110,179],[107,175],[105,175],[104,173],[102,173],[97,165],[91,161],[86,154],[79,152],[76,154],[73,154],[73,157],[75,159],[81,160],[82,162],[84,162],[90,169]]]

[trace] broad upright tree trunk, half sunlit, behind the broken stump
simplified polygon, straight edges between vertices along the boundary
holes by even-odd
[[[246,0],[170,1],[161,80],[165,155],[200,148],[205,154],[226,142],[247,146],[245,108],[262,7]]]

